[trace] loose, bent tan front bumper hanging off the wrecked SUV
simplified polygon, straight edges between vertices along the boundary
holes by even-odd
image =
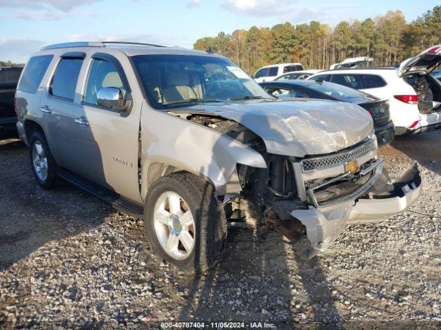
[[[380,180],[379,180],[380,181]],[[375,223],[403,212],[420,197],[422,179],[418,163],[395,184],[384,184],[371,189],[362,197],[340,204],[307,210],[293,210],[291,216],[305,225],[311,248],[307,251],[312,258],[325,250],[344,230],[347,223]],[[375,187],[375,188],[374,188]]]

